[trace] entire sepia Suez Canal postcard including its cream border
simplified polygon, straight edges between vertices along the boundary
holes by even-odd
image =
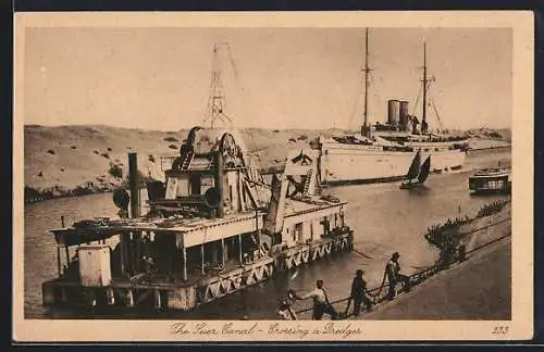
[[[15,15],[14,339],[530,338],[532,21]]]

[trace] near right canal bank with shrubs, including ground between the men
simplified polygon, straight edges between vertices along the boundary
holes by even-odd
[[[486,203],[474,216],[458,215],[428,229],[426,241],[440,249],[434,264],[410,269],[400,255],[401,273],[412,282],[408,292],[397,286],[397,296],[388,301],[384,276],[381,285],[368,287],[373,310],[354,317],[348,297],[331,303],[348,319],[509,319],[510,236],[511,202]],[[296,310],[299,319],[311,318],[311,306]]]

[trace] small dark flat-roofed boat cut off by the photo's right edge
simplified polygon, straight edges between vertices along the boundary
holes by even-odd
[[[469,177],[472,193],[508,193],[511,190],[511,168],[509,166],[486,167]]]

